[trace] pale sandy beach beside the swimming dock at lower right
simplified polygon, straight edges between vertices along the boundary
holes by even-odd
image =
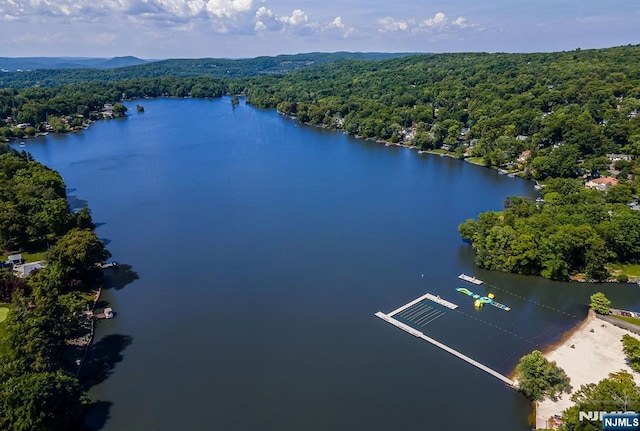
[[[597,383],[608,377],[609,373],[620,370],[628,371],[635,377],[636,382],[640,382],[640,374],[632,371],[626,363],[620,341],[624,334],[640,338],[596,318],[590,311],[581,324],[545,351],[544,355],[550,361],[555,361],[571,378],[573,392],[579,390],[581,385]],[[572,345],[574,348],[571,348]],[[557,401],[545,399],[539,402],[536,409],[536,428],[546,428],[549,417],[561,414],[564,409],[571,407],[573,403],[570,397],[571,394],[563,394]]]

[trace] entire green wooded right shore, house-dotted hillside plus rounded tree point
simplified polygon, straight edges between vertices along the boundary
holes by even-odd
[[[254,79],[246,93],[311,124],[567,179],[461,225],[480,267],[603,280],[612,262],[640,261],[639,46],[330,64]]]

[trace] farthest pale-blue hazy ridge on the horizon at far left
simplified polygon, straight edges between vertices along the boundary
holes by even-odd
[[[40,69],[112,69],[149,63],[133,56],[113,58],[92,57],[0,57],[3,72]]]

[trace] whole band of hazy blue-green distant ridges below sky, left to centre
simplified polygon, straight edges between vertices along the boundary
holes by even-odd
[[[0,69],[4,69],[3,72],[5,72],[0,73],[0,87],[23,88],[33,85],[53,87],[79,82],[119,81],[160,76],[246,78],[283,74],[313,65],[336,63],[345,60],[376,61],[409,55],[414,54],[312,52],[246,59],[188,58],[161,61],[146,61],[136,57],[115,57],[110,60],[86,58],[55,59],[46,57],[11,59],[0,57]],[[20,63],[20,61],[22,62]],[[5,66],[5,64],[10,65],[10,67]],[[21,67],[16,67],[18,64]],[[55,65],[60,67],[56,68],[54,67]],[[18,71],[18,69],[21,71]]]

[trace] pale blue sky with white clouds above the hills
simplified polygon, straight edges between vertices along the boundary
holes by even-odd
[[[0,57],[568,51],[639,25],[639,0],[0,0]]]

